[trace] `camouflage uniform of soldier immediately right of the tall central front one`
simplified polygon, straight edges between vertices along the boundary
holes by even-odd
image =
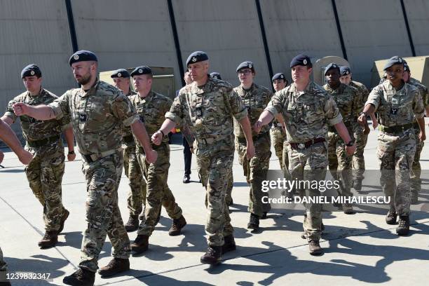
[[[257,122],[266,104],[271,100],[273,93],[268,88],[258,86],[253,83],[252,86],[245,90],[243,86],[234,88],[234,91],[243,100],[243,104],[247,109],[250,125]],[[247,160],[246,156],[246,137],[243,128],[238,121],[234,120],[234,135],[236,135],[236,150],[238,152],[238,161],[243,166],[244,175],[247,183],[250,184],[250,197],[248,211],[262,217],[264,212],[271,210],[269,203],[262,203],[262,197],[266,194],[261,191],[262,181],[266,180],[268,168],[271,158],[271,140],[270,127],[265,125],[261,128],[261,132],[256,134],[252,130],[254,156]]]

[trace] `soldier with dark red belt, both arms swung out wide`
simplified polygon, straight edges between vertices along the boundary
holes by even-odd
[[[307,55],[297,55],[290,62],[292,83],[273,96],[268,107],[254,125],[259,131],[270,123],[277,114],[282,114],[286,122],[286,137],[289,142],[289,176],[298,181],[320,182],[325,180],[327,167],[327,129],[334,125],[346,143],[346,152],[355,151],[346,125],[331,95],[310,80],[311,60]],[[318,188],[304,184],[298,189],[300,196],[320,196]],[[294,190],[292,190],[294,191]],[[308,240],[310,254],[322,254],[319,240],[322,229],[322,205],[304,203],[304,231]]]

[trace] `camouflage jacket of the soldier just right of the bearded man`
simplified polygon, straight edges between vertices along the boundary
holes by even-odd
[[[165,120],[164,115],[170,110],[172,104],[170,98],[152,90],[144,98],[139,97],[138,94],[132,95],[130,101],[137,110],[140,121],[144,123],[149,138],[161,128]],[[142,147],[140,142],[135,141],[137,146]],[[168,136],[163,138],[163,142],[168,142]]]

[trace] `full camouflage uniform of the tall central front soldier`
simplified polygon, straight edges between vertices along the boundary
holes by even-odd
[[[196,82],[179,91],[165,118],[189,126],[196,139],[201,182],[207,190],[207,243],[224,244],[224,236],[233,233],[231,218],[225,203],[225,193],[233,163],[233,117],[238,121],[247,116],[247,109],[229,83],[207,79],[204,86]]]

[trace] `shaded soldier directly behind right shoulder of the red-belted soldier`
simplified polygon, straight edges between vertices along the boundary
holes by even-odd
[[[332,95],[332,99],[339,108],[343,117],[343,123],[346,125],[348,134],[352,135],[357,125],[357,115],[361,109],[361,93],[357,88],[347,86],[340,81],[340,68],[338,64],[332,62],[325,68],[325,78],[327,84],[323,88]],[[355,139],[352,138],[352,142]],[[346,146],[343,139],[339,136],[334,126],[328,127],[328,165],[332,177],[339,181],[341,196],[350,198],[352,195],[352,158],[346,154]],[[353,214],[351,203],[342,203],[345,214]]]

